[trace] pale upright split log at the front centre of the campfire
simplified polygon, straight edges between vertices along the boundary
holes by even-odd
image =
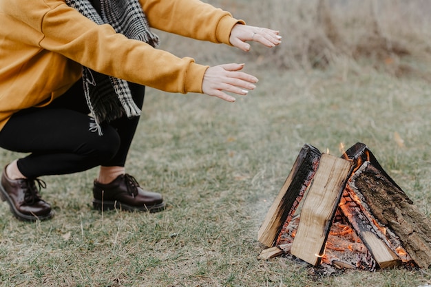
[[[352,160],[322,154],[301,209],[292,255],[313,265],[320,264],[335,211],[352,170]]]

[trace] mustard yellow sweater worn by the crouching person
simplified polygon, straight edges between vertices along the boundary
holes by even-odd
[[[152,28],[229,44],[238,20],[198,0],[140,0]],[[240,21],[241,22],[241,21]],[[244,23],[244,22],[241,22]],[[92,70],[167,92],[202,93],[207,66],[96,25],[61,0],[0,0],[0,129]]]

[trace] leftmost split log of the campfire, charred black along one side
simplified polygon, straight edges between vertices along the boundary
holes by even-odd
[[[268,247],[275,245],[284,224],[293,217],[299,201],[310,184],[320,155],[320,151],[311,145],[304,145],[299,151],[291,172],[260,226],[257,233],[259,242]]]

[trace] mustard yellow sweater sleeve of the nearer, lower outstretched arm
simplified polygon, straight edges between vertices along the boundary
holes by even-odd
[[[59,0],[10,1],[12,17],[34,29],[26,41],[92,70],[167,92],[200,92],[207,66],[127,39],[110,25],[97,25]],[[36,59],[34,59],[36,61]],[[56,72],[55,67],[52,71]]]

